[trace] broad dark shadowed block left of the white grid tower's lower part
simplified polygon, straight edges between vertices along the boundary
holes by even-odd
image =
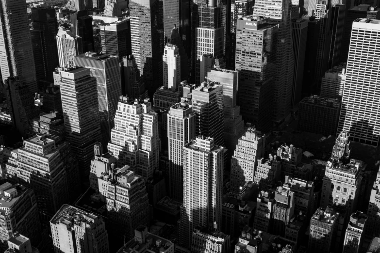
[[[334,135],[338,126],[341,100],[317,95],[305,97],[298,105],[298,130]]]

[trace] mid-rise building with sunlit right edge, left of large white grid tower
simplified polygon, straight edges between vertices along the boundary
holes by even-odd
[[[346,64],[334,66],[322,78],[321,96],[342,98],[346,81]]]

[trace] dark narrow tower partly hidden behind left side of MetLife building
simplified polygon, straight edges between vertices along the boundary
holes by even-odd
[[[254,3],[254,0],[231,0],[230,51],[227,52],[230,57],[226,59],[229,69],[235,69],[237,19],[250,15],[253,11]]]

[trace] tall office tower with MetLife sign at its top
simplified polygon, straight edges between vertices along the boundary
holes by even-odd
[[[260,16],[245,16],[236,22],[235,70],[239,71],[241,114],[246,122],[266,131],[272,124],[279,26]]]

